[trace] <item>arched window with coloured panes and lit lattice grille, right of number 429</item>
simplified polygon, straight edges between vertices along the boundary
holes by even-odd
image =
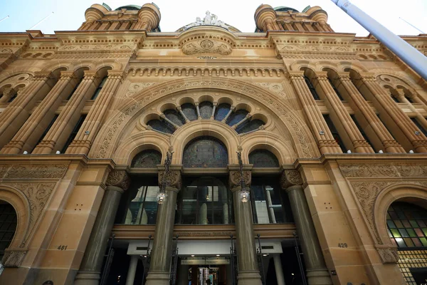
[[[387,232],[399,250],[399,268],[406,284],[421,284],[427,279],[427,209],[409,202],[390,205]]]

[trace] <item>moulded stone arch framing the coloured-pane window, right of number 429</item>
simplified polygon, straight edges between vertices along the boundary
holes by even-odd
[[[401,184],[386,187],[380,192],[374,204],[374,225],[382,244],[391,244],[387,233],[386,214],[393,202],[414,201],[427,209],[427,188],[420,185]]]

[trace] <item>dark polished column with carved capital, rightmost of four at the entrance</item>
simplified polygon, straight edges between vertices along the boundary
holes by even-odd
[[[304,254],[309,285],[330,285],[332,280],[327,270],[322,249],[313,224],[307,199],[302,189],[302,179],[297,170],[285,170],[280,185],[288,193],[292,215],[295,219],[302,253]]]

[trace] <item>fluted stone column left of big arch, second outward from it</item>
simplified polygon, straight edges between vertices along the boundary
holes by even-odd
[[[51,130],[33,150],[33,154],[51,153],[57,145],[60,148],[63,147],[62,144],[65,143],[80,118],[80,111],[86,100],[95,92],[99,83],[97,73],[85,71],[85,77],[68,100],[58,119],[53,123]]]

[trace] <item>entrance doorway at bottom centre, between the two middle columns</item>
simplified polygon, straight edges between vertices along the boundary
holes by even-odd
[[[231,283],[229,257],[179,257],[177,285],[226,285]]]

